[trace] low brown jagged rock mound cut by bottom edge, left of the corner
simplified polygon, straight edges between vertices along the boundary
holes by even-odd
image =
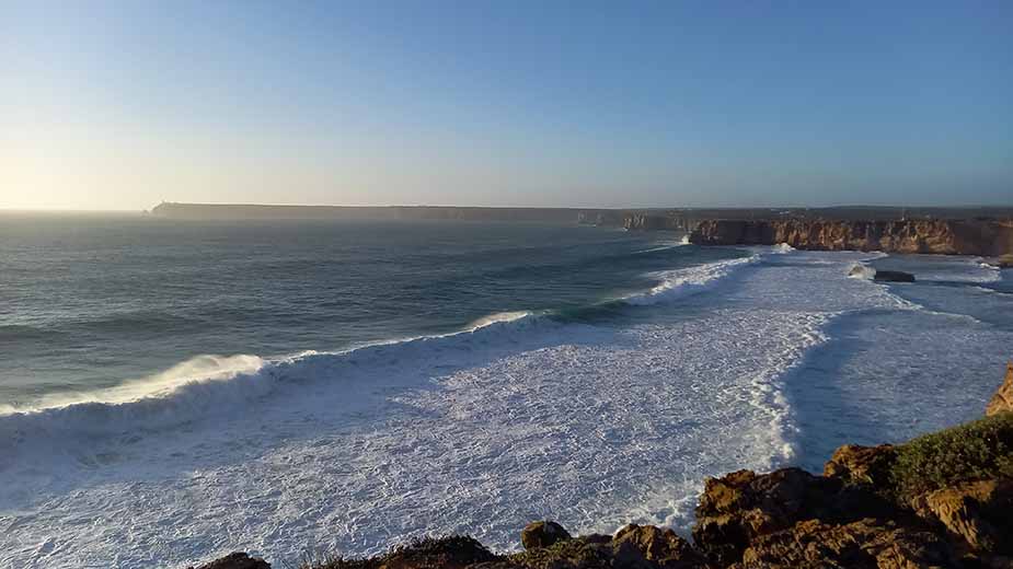
[[[918,569],[954,567],[945,542],[931,532],[866,519],[844,525],[808,520],[759,536],[735,569]]]

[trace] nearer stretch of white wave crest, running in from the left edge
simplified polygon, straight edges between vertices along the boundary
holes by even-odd
[[[46,396],[30,407],[0,409],[0,472],[42,439],[116,436],[153,431],[208,416],[242,410],[279,388],[313,381],[341,381],[348,368],[382,365],[400,358],[472,351],[490,342],[516,341],[550,322],[525,321],[527,312],[492,314],[468,330],[364,346],[342,352],[308,351],[262,359],[256,356],[198,356],[150,378],[106,390]],[[513,336],[513,337],[511,337]],[[348,373],[347,375],[353,375]]]

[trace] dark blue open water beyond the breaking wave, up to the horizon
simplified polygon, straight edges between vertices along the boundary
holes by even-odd
[[[525,223],[0,217],[0,403],[198,355],[280,356],[588,310],[736,256],[679,235]]]

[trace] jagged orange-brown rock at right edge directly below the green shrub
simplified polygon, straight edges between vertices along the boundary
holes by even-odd
[[[976,551],[1013,553],[1013,480],[980,480],[912,500],[919,515],[937,521]]]

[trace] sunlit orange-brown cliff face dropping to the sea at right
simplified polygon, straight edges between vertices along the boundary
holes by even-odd
[[[799,249],[884,251],[999,256],[1013,253],[1013,224],[1001,221],[707,220],[690,235],[700,245],[775,245]]]

